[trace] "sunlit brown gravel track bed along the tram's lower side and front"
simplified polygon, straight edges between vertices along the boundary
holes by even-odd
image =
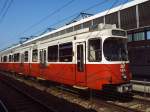
[[[150,102],[143,99],[138,99],[133,97],[133,99],[129,99],[126,96],[122,96],[122,100],[118,98],[118,95],[95,95],[95,93],[91,93],[92,95],[89,98],[83,98],[78,94],[69,92],[63,89],[62,87],[45,87],[37,82],[33,82],[31,80],[24,80],[19,78],[18,80],[36,88],[40,88],[42,91],[46,91],[50,94],[53,94],[57,97],[63,98],[71,103],[80,104],[85,108],[92,108],[97,112],[149,112]]]

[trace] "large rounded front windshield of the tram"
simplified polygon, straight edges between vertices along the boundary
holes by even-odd
[[[127,39],[110,37],[104,41],[104,56],[108,61],[127,61]]]

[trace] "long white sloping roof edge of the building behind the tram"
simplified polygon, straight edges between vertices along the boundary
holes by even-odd
[[[67,29],[67,28],[70,28],[70,27],[73,27],[73,26],[76,26],[76,25],[78,25],[78,24],[82,24],[82,23],[84,23],[84,22],[87,22],[87,21],[96,19],[96,18],[98,18],[98,17],[105,16],[106,14],[108,15],[108,14],[117,12],[117,11],[119,11],[119,10],[123,10],[123,9],[129,8],[129,7],[132,7],[132,6],[135,6],[135,5],[144,3],[144,2],[146,2],[146,1],[149,1],[149,0],[133,0],[133,1],[131,1],[131,2],[128,2],[128,3],[124,4],[124,5],[119,5],[119,6],[115,7],[115,8],[112,8],[111,10],[106,10],[106,11],[100,12],[100,13],[94,15],[94,16],[91,16],[91,17],[88,17],[88,18],[85,18],[85,19],[81,19],[81,20],[79,20],[79,21],[77,21],[77,22],[74,22],[74,23],[71,23],[71,24],[69,24],[69,25],[60,27],[60,28],[58,28],[57,30],[54,30],[54,31],[45,33],[45,34],[40,35],[40,36],[38,36],[38,37],[36,37],[36,38],[33,38],[33,39],[31,39],[31,40],[26,41],[26,42],[24,42],[23,44],[27,44],[27,43],[30,43],[30,42],[34,42],[34,41],[36,41],[36,40],[38,40],[38,39],[41,39],[41,38],[44,38],[44,37],[46,37],[46,36],[48,36],[48,35],[50,35],[50,34],[59,32],[59,31],[61,31],[61,30],[64,30],[64,29]],[[5,50],[2,50],[1,52],[4,52],[4,51],[7,51],[7,50],[11,50],[11,49],[17,48],[17,47],[19,47],[20,45],[21,45],[21,44],[14,45],[14,46],[12,46],[12,47],[10,47],[10,48],[7,48],[7,49],[5,49]]]

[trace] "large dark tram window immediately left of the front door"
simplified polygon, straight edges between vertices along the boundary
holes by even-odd
[[[59,61],[72,62],[73,56],[72,42],[59,45]]]

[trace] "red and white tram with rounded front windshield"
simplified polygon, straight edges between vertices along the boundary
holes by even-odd
[[[0,52],[0,69],[77,88],[132,90],[126,32],[99,24],[53,31]]]

